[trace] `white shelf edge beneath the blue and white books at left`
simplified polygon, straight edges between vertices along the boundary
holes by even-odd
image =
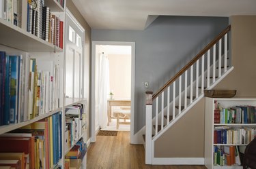
[[[3,134],[5,132],[10,132],[10,131],[12,131],[16,128],[21,128],[23,126],[27,126],[28,124],[32,124],[35,121],[38,121],[40,119],[44,119],[45,117],[51,116],[54,113],[57,113],[59,111],[62,111],[62,109],[61,108],[55,109],[54,111],[51,111],[49,113],[45,113],[44,115],[40,115],[40,116],[35,117],[33,119],[29,119],[28,121],[20,122],[18,124],[9,124],[9,125],[6,125],[6,126],[0,126],[0,134]]]

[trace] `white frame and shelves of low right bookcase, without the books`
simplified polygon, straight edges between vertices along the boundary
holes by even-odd
[[[205,166],[212,168],[242,168],[242,166],[216,166],[214,165],[214,145],[232,146],[233,144],[214,144],[214,128],[217,126],[227,126],[229,128],[246,127],[255,128],[256,124],[214,124],[214,100],[221,107],[230,108],[236,106],[256,106],[256,98],[207,98],[205,97]],[[246,146],[246,144],[236,144],[236,146]]]

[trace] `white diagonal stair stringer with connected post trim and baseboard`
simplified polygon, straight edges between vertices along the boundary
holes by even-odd
[[[221,77],[219,77],[218,79],[216,79],[216,81],[214,83],[212,83],[212,85],[208,88],[208,90],[211,90],[212,88],[214,88],[218,83],[220,83],[229,73],[231,73],[231,71],[233,71],[233,67],[231,67],[230,69],[228,69]],[[186,115],[186,113],[192,108],[194,107],[197,102],[199,102],[199,100],[201,100],[204,97],[204,94],[200,94],[198,96],[198,98],[196,98],[195,100],[193,100],[192,104],[188,105],[186,107],[186,109],[184,109],[182,111],[182,113],[180,113],[180,115],[177,115],[177,117],[175,117],[175,119],[172,119],[169,124],[167,126],[165,126],[163,128],[163,130],[160,130],[160,132],[158,132],[158,134],[154,137],[152,137],[152,164],[153,165],[193,165],[193,164],[197,164],[197,165],[204,165],[204,158],[203,157],[184,157],[184,158],[173,158],[173,157],[154,157],[154,145],[155,145],[155,141],[162,136],[162,134],[164,134],[167,130],[169,130],[169,128],[171,128],[171,126],[173,126],[181,117],[183,117],[184,115]]]

